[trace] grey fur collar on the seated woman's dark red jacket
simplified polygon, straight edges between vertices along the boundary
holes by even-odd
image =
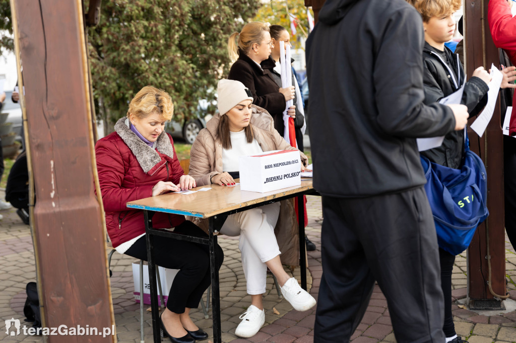
[[[143,142],[136,133],[131,131],[129,128],[129,119],[127,117],[118,119],[115,124],[115,132],[118,133],[120,138],[134,153],[144,173],[148,173],[149,170],[162,160],[156,150],[167,155],[171,159],[174,158],[174,148],[172,147],[172,143],[170,143],[170,139],[165,131],[158,136],[158,139],[152,148],[145,144],[145,142]]]

